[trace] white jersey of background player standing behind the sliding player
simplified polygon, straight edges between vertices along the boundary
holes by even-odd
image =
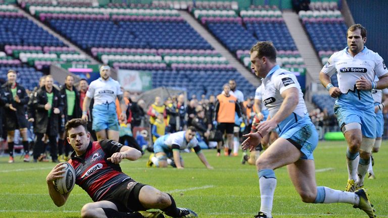
[[[109,78],[103,80],[101,77],[90,83],[86,96],[94,99],[94,105],[116,102],[117,95],[123,94],[120,84]]]

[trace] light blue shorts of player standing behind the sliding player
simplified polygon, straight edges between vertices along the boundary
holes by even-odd
[[[91,129],[98,132],[101,130],[119,131],[115,102],[93,106]]]

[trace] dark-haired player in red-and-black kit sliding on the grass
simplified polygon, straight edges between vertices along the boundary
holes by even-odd
[[[170,194],[138,183],[121,171],[119,163],[140,158],[140,151],[113,140],[91,142],[86,124],[73,119],[65,126],[67,141],[74,148],[68,162],[76,172],[76,184],[94,201],[82,207],[82,217],[165,217],[160,211],[148,209],[161,209],[172,217],[197,217],[190,209],[177,208]],[[64,205],[70,195],[59,193],[54,186],[54,181],[63,177],[62,165],[63,162],[59,163],[46,177],[50,197],[57,206]],[[91,168],[96,170],[90,171]]]

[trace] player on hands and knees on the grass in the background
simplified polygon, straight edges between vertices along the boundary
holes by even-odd
[[[154,153],[150,155],[147,167],[154,165],[155,167],[165,168],[171,165],[172,167],[183,169],[184,163],[180,156],[180,150],[192,148],[206,168],[213,169],[198,145],[196,133],[196,128],[189,126],[186,131],[159,137],[154,143]]]

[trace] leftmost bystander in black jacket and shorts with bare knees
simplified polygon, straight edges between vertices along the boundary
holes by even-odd
[[[27,137],[28,121],[26,119],[26,111],[24,109],[24,106],[28,103],[29,98],[24,87],[16,83],[16,77],[16,71],[9,70],[7,73],[8,82],[2,86],[4,91],[3,100],[5,102],[4,124],[7,130],[8,150],[10,152],[9,163],[13,163],[15,161],[13,150],[16,129],[19,129],[20,135],[23,138],[22,144],[25,152],[24,161],[30,160]]]

